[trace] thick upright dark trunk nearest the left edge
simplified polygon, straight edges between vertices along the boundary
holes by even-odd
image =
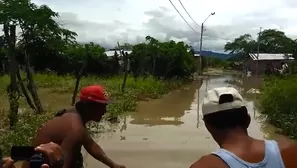
[[[9,126],[12,129],[17,122],[17,115],[19,109],[19,92],[16,79],[16,59],[15,59],[15,43],[16,43],[16,26],[4,24],[5,40],[8,44],[8,60],[9,60],[9,72],[10,72],[10,84],[7,87],[7,93],[9,96]]]

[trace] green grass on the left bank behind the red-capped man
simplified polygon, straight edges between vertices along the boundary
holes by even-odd
[[[23,97],[20,99],[20,109],[22,114],[18,116],[16,128],[8,130],[8,111],[9,104],[6,95],[6,87],[9,84],[9,77],[0,77],[0,97],[3,101],[0,104],[0,149],[4,154],[9,154],[12,145],[29,145],[30,138],[34,136],[35,131],[54,113],[70,105],[72,92],[75,85],[73,76],[56,76],[54,74],[35,74],[38,93],[41,102],[46,109],[46,113],[41,115],[33,114],[26,104]],[[102,84],[111,95],[114,103],[108,106],[106,117],[116,117],[125,112],[135,111],[137,101],[158,98],[163,94],[177,89],[185,84],[185,81],[171,80],[163,81],[149,77],[145,80],[134,80],[128,77],[125,93],[120,92],[122,77],[85,77],[81,80],[80,88],[90,84]],[[101,126],[91,124],[92,130],[100,131]]]

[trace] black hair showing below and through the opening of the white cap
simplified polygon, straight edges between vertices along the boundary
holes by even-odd
[[[231,94],[224,94],[220,96],[219,104],[233,101],[234,97]],[[207,114],[204,116],[204,121],[214,128],[224,130],[236,127],[247,129],[250,123],[248,110],[245,106]]]

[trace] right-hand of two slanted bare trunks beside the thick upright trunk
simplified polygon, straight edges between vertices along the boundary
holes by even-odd
[[[34,104],[36,106],[36,112],[40,114],[40,113],[43,113],[44,110],[41,105],[41,101],[39,99],[38,93],[37,93],[36,84],[33,79],[33,72],[30,67],[30,58],[27,55],[26,50],[25,50],[25,63],[26,63],[26,73],[27,73],[27,79],[28,79],[27,88],[30,91],[31,96],[33,98]]]

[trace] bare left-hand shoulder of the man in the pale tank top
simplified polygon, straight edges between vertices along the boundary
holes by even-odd
[[[199,160],[191,165],[190,168],[224,168],[226,166],[225,162],[219,157],[209,154],[202,156]]]

